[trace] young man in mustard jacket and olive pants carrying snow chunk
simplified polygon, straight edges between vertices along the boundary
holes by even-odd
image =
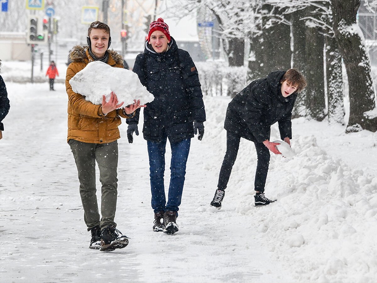
[[[84,208],[84,221],[92,239],[89,248],[100,251],[113,251],[128,245],[128,238],[121,235],[114,222],[117,199],[118,126],[122,118],[131,118],[139,107],[138,100],[132,105],[119,108],[116,94],[111,92],[108,102],[105,96],[102,105],[86,101],[75,93],[69,80],[92,61],[102,61],[115,68],[123,68],[123,58],[116,51],[108,50],[111,37],[110,28],[96,21],[90,24],[87,36],[88,46],[77,45],[69,54],[70,64],[66,74],[68,94],[68,137],[75,158],[80,195]],[[119,109],[118,109],[119,108]],[[101,218],[98,212],[95,162],[100,169]]]

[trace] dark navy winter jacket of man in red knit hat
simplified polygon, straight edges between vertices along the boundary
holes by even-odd
[[[133,72],[155,97],[143,110],[144,139],[160,141],[164,134],[170,142],[192,138],[193,121],[204,122],[205,110],[198,71],[189,53],[178,49],[173,38],[162,53],[156,53],[146,42]],[[138,120],[139,111],[127,123],[137,124]]]

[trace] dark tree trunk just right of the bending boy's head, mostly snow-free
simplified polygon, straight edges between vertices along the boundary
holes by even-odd
[[[325,118],[325,86],[323,73],[323,45],[324,36],[319,28],[306,29],[307,61],[305,74],[308,86],[306,88],[305,106],[307,117],[322,121]]]

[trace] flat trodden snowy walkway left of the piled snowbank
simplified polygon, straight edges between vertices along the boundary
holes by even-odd
[[[216,213],[209,209],[218,172],[204,169],[208,143],[192,142],[179,232],[152,232],[146,142],[139,136],[129,145],[126,123],[120,127],[115,220],[130,243],[111,253],[90,250],[66,143],[64,85],[56,84],[56,92],[47,84],[8,83],[7,89],[11,111],[0,143],[1,282],[293,280],[268,246],[255,240],[257,231],[244,225],[250,222],[247,215],[231,205]]]

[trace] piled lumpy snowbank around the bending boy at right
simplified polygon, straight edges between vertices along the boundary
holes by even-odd
[[[207,111],[205,127],[210,130],[204,139],[216,144],[217,152],[216,164],[210,152],[203,152],[205,174],[218,174],[225,154],[223,125],[228,102],[229,98],[205,97],[206,109],[216,111]],[[351,169],[331,155],[332,147],[342,144],[339,137],[326,152],[307,125],[300,127],[293,125],[291,145],[296,156],[271,154],[265,193],[277,202],[254,207],[256,152],[251,141],[241,139],[223,208],[234,203],[239,214],[250,216],[245,225],[259,232],[256,240],[264,243],[298,282],[375,282],[377,177],[369,168]],[[271,140],[279,136],[274,125]],[[343,152],[347,154],[352,153]],[[221,221],[225,215],[219,215]]]

